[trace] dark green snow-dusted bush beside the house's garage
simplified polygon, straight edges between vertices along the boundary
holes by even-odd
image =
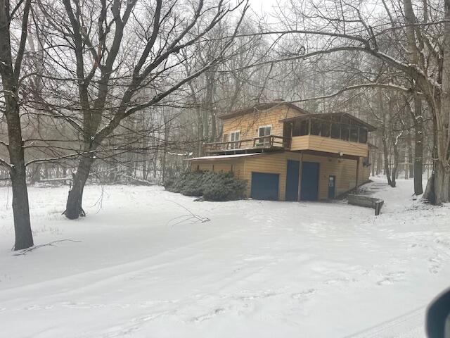
[[[169,192],[179,192],[186,196],[203,195],[206,201],[232,201],[243,199],[247,182],[237,179],[233,173],[197,171],[168,179],[164,187]]]

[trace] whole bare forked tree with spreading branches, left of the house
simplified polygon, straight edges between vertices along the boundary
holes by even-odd
[[[53,43],[51,53],[71,56],[53,68],[63,70],[63,81],[76,83],[78,97],[71,99],[76,100],[72,106],[82,115],[82,123],[75,125],[82,134],[82,156],[65,210],[65,215],[73,219],[84,215],[84,185],[103,141],[129,116],[161,104],[177,89],[223,61],[248,6],[243,6],[243,0],[236,6],[223,0],[200,0],[196,4],[64,0],[63,8],[53,6],[50,11],[48,3],[40,3],[46,9],[51,30],[62,39],[58,46]],[[184,60],[175,58],[176,54],[196,42],[207,45],[207,32],[241,6],[236,28],[217,56],[191,75],[179,73]],[[189,12],[192,16],[188,19]],[[150,97],[139,95],[143,89],[151,93]]]

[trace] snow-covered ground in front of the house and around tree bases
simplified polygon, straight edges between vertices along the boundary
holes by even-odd
[[[60,215],[67,187],[32,187],[35,243],[80,242],[25,256],[0,188],[0,336],[423,337],[425,306],[450,286],[450,206],[412,201],[411,186],[380,189],[378,217],[87,187],[76,221]]]

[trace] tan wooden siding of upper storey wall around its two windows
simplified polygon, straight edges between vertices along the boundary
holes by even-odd
[[[258,128],[271,125],[271,134],[283,136],[283,123],[280,120],[284,118],[293,118],[300,115],[300,111],[281,105],[266,111],[255,111],[255,113],[236,116],[224,120],[222,127],[222,138],[224,134],[240,131],[240,139],[252,139],[258,137]]]

